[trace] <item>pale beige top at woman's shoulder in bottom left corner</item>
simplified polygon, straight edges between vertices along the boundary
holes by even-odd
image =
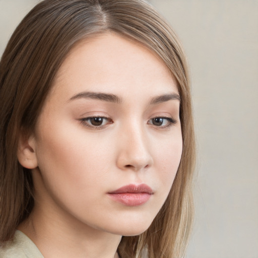
[[[0,248],[1,258],[44,258],[37,246],[20,230],[16,230],[14,241]]]

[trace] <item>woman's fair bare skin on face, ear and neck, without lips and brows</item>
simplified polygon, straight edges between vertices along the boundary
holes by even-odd
[[[113,94],[120,102],[71,100],[82,92]],[[163,61],[133,40],[101,34],[70,51],[33,135],[21,138],[18,150],[35,185],[35,207],[19,229],[45,258],[117,257],[122,235],[148,229],[182,153],[179,100],[150,104],[171,93],[178,90]],[[87,117],[107,119],[93,126]],[[155,117],[168,118],[157,124]],[[143,205],[128,207],[108,194],[141,183],[153,189]]]

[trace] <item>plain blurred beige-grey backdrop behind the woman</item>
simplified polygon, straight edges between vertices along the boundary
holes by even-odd
[[[1,55],[38,2],[0,0]],[[186,257],[258,258],[258,1],[150,3],[181,39],[192,77],[198,164]]]

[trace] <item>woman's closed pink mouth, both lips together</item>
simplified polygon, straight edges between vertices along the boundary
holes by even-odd
[[[108,195],[115,202],[125,206],[140,206],[147,203],[153,193],[152,188],[147,184],[128,184],[108,192]]]

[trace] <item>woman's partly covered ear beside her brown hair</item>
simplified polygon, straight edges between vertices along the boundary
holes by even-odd
[[[25,168],[33,169],[38,166],[36,140],[34,136],[28,136],[23,133],[20,134],[17,157],[20,164]]]

